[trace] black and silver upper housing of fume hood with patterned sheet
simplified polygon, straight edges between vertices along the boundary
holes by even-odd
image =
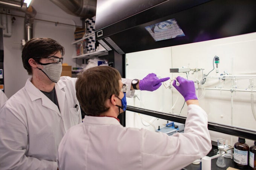
[[[256,0],[97,0],[95,33],[126,54],[252,33],[255,23]]]

